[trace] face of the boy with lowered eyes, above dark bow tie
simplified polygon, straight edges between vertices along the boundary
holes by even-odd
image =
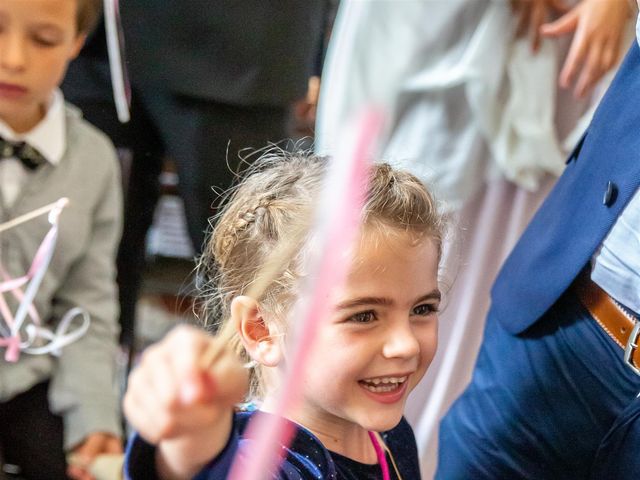
[[[0,118],[18,132],[43,117],[82,48],[77,0],[0,0]]]

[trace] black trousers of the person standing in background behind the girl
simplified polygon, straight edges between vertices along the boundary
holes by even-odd
[[[145,239],[159,197],[164,157],[176,163],[189,236],[200,252],[221,193],[242,167],[238,152],[283,140],[288,115],[285,107],[225,105],[174,96],[153,86],[133,93],[131,121],[124,125],[118,123],[111,102],[69,95],[87,120],[110,136],[116,147],[131,153],[118,251],[121,343],[127,346],[133,342]]]

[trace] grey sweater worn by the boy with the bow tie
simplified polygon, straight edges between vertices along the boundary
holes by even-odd
[[[118,335],[115,254],[122,199],[111,142],[73,107],[66,108],[66,122],[67,146],[60,163],[46,164],[31,174],[10,209],[0,203],[0,222],[60,197],[69,198],[60,216],[55,253],[34,304],[50,327],[75,306],[87,310],[91,324],[60,357],[22,354],[14,364],[0,357],[0,401],[50,379],[50,409],[63,417],[65,447],[69,448],[92,432],[120,434],[114,371]],[[11,276],[26,273],[48,229],[43,215],[0,233],[0,261]],[[14,298],[5,294],[5,299],[15,314]]]

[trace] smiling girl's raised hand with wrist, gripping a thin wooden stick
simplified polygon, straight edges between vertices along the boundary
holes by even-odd
[[[247,384],[237,356],[193,327],[175,328],[145,351],[129,378],[124,411],[157,445],[162,478],[191,478],[220,453],[231,433],[233,405]]]

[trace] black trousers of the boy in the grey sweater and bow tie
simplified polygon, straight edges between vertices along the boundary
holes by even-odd
[[[0,403],[0,456],[3,464],[18,467],[6,478],[67,478],[62,419],[49,411],[47,391],[48,383],[41,383]]]

